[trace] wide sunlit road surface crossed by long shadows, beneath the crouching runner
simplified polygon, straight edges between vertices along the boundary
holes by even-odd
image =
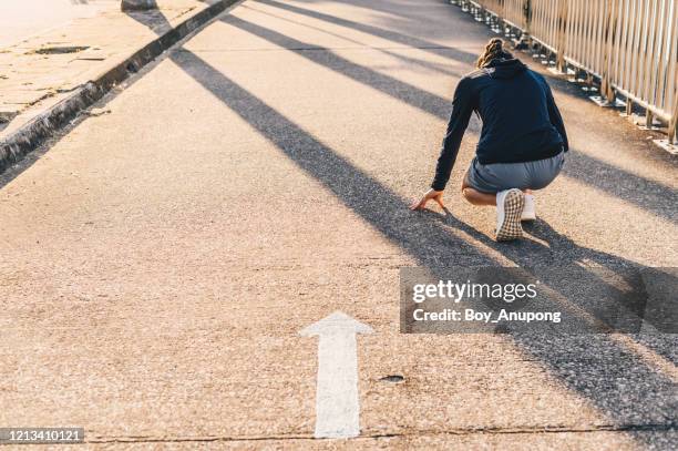
[[[401,266],[678,263],[676,161],[559,81],[573,151],[527,239],[495,244],[456,193],[477,122],[451,214],[407,209],[490,35],[438,0],[246,1],[0,176],[0,423],[116,449],[670,449],[672,336],[399,334]],[[298,331],[335,310],[374,329],[361,435],[317,441]]]

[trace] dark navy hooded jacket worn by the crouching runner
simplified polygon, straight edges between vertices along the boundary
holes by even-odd
[[[565,125],[546,80],[520,60],[492,60],[456,85],[433,189],[444,189],[474,111],[483,122],[476,148],[481,164],[531,162],[568,150]]]

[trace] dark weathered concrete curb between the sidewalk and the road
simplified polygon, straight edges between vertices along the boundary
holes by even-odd
[[[222,0],[178,23],[172,30],[137,50],[131,57],[116,62],[99,76],[79,86],[68,98],[48,107],[23,124],[11,135],[0,141],[0,174],[35,150],[44,140],[66,125],[78,113],[92,105],[113,86],[137,72],[165,50],[184,39],[224,12],[238,0]]]

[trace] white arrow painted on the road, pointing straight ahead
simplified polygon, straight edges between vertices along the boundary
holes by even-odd
[[[360,434],[356,334],[372,332],[371,327],[341,311],[335,311],[299,332],[306,337],[320,337],[316,438],[348,438]]]

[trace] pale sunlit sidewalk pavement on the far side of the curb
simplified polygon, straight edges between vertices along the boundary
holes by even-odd
[[[120,3],[11,0],[0,6],[0,142],[218,1],[161,0],[151,12],[123,12]]]

